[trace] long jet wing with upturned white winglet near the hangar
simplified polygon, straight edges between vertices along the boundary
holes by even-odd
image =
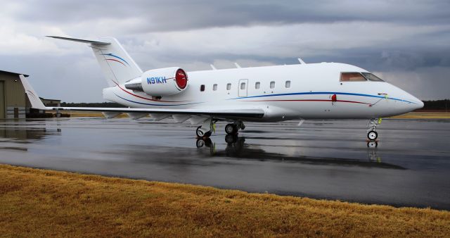
[[[44,106],[37,93],[31,87],[28,80],[20,75],[20,80],[25,88],[25,94],[32,105],[32,108],[39,110],[60,110],[60,111],[98,111],[107,118],[114,117],[120,113],[128,113],[131,118],[137,119],[151,114],[156,120],[161,120],[175,115],[174,119],[179,121],[187,120],[195,116],[214,118],[262,118],[264,110],[262,108],[240,108],[240,109],[167,109],[167,108],[84,108],[84,107],[47,107]],[[155,115],[155,116],[154,116]],[[178,115],[178,116],[176,116]]]

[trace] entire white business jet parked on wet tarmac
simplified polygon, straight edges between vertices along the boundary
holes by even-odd
[[[229,122],[226,134],[245,122],[310,119],[367,119],[371,141],[380,118],[408,113],[423,102],[380,77],[345,63],[304,63],[254,68],[195,71],[179,67],[143,72],[113,37],[98,41],[53,37],[89,44],[109,87],[103,98],[127,108],[46,107],[20,76],[32,108],[49,111],[99,111],[106,118],[127,113],[132,119],[172,117],[198,125],[196,135],[210,137],[217,121]]]

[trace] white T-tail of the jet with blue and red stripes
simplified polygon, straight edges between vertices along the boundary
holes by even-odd
[[[110,86],[123,84],[142,75],[139,65],[134,62],[117,39],[113,37],[103,37],[98,41],[68,37],[48,37],[89,44]]]

